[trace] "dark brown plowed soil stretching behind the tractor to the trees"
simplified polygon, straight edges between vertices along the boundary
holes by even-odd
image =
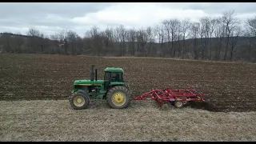
[[[67,99],[75,79],[103,78],[106,66],[122,67],[133,97],[153,88],[186,84],[210,98],[212,111],[256,110],[256,65],[161,58],[97,58],[42,54],[0,55],[0,100]]]

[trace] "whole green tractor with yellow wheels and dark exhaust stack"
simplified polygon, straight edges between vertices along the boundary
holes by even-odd
[[[124,82],[122,68],[107,67],[104,72],[104,80],[98,80],[97,69],[94,70],[93,65],[90,80],[74,81],[70,95],[70,105],[74,110],[88,108],[90,99],[106,99],[114,109],[130,105],[130,86]]]

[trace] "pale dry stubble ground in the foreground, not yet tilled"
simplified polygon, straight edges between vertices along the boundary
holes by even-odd
[[[131,102],[114,110],[93,101],[72,110],[67,100],[0,102],[0,141],[255,141],[256,113],[159,110]]]

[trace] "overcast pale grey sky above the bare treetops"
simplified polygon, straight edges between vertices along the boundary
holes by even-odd
[[[26,34],[30,28],[46,35],[61,30],[74,30],[83,36],[92,26],[140,28],[154,26],[166,18],[219,16],[225,10],[235,10],[238,18],[256,15],[254,2],[183,2],[183,3],[0,3],[0,32]]]

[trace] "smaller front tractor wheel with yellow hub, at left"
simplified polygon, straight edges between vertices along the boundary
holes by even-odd
[[[74,110],[86,109],[90,104],[90,99],[86,93],[75,92],[70,96],[70,105]]]

